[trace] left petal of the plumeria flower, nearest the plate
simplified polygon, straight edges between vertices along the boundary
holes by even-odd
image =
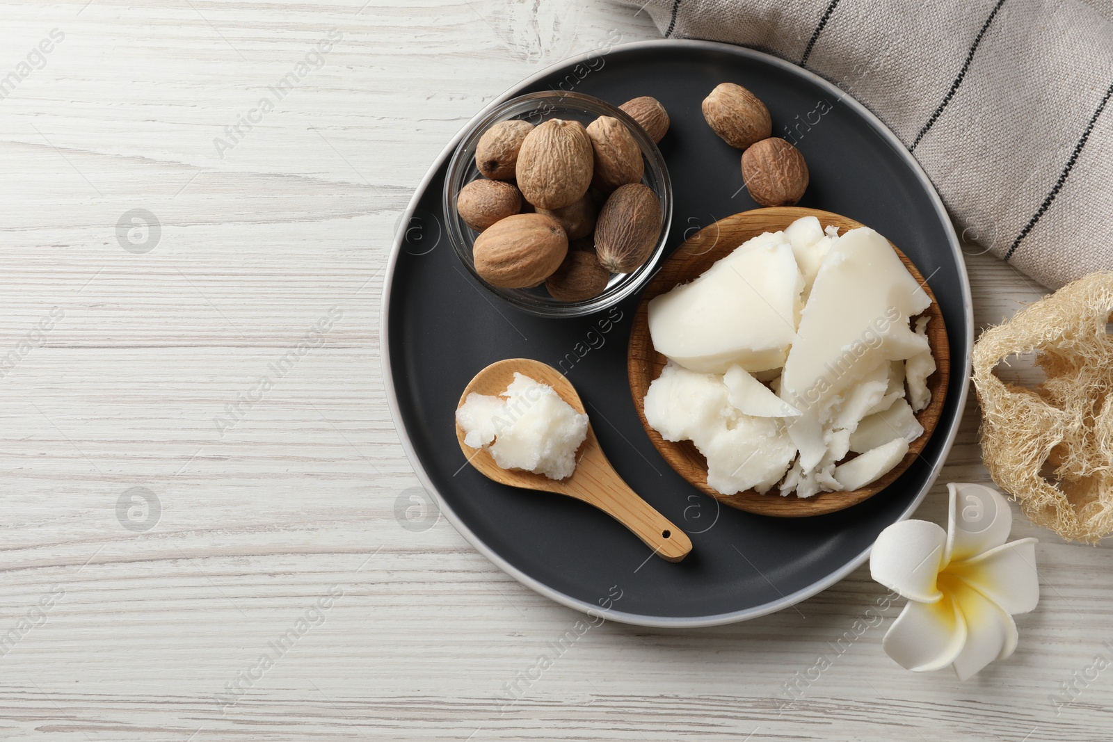
[[[894,523],[874,542],[869,574],[908,600],[935,603],[943,597],[935,577],[943,565],[946,542],[947,534],[934,523]]]

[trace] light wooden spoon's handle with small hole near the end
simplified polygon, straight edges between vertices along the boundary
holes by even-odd
[[[594,432],[589,435],[593,437]],[[588,446],[564,492],[594,505],[630,528],[661,558],[679,562],[692,550],[688,534],[622,481],[598,443]]]

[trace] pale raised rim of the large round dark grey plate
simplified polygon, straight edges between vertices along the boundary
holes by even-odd
[[[961,291],[963,297],[963,314],[965,318],[967,338],[973,339],[974,337],[974,310],[973,310],[973,298],[971,294],[969,276],[966,270],[966,261],[963,258],[962,248],[958,245],[958,235],[955,233],[954,224],[951,221],[951,216],[947,214],[946,207],[943,205],[943,199],[939,198],[939,194],[935,190],[935,186],[932,184],[927,174],[920,167],[916,158],[912,156],[908,149],[905,147],[904,142],[877,117],[866,108],[864,105],[858,102],[849,92],[843,90],[835,83],[819,77],[815,72],[794,65],[792,62],[780,59],[779,57],[774,57],[772,55],[765,53],[762,51],[757,51],[748,47],[740,47],[731,43],[725,43],[720,41],[703,41],[698,39],[649,39],[646,41],[631,41],[628,43],[615,44],[611,47],[608,53],[613,53],[615,51],[629,51],[638,49],[672,49],[677,47],[687,47],[689,49],[701,49],[706,51],[717,51],[725,52],[729,55],[736,55],[743,58],[749,58],[756,61],[761,61],[774,67],[781,68],[789,73],[801,75],[804,78],[810,80],[818,87],[827,90],[829,93],[837,95],[840,102],[846,103],[856,113],[861,116],[869,125],[874,127],[877,133],[886,141],[897,152],[898,156],[910,167],[913,175],[920,181],[920,185],[926,190],[933,206],[935,207],[936,214],[939,216],[943,225],[944,231],[947,237],[947,244],[951,246],[951,250],[954,254],[955,261],[958,268],[958,275],[962,278]],[[425,488],[425,492],[430,494],[435,501],[436,506],[441,513],[444,514],[445,518],[456,532],[464,537],[467,543],[470,543],[476,551],[479,551],[484,557],[487,558],[496,567],[509,574],[511,577],[522,583],[526,587],[533,590],[534,592],[565,605],[570,609],[583,613],[590,613],[592,615],[601,615],[603,619],[609,619],[611,621],[617,621],[620,623],[632,624],[637,626],[650,626],[656,629],[689,629],[699,626],[717,626],[722,624],[736,623],[739,621],[748,621],[750,619],[757,619],[784,609],[790,607],[804,600],[816,595],[835,583],[841,581],[848,574],[861,566],[863,563],[869,557],[869,552],[873,545],[867,546],[861,553],[859,553],[854,558],[849,560],[838,570],[835,570],[828,574],[823,580],[811,583],[806,587],[790,593],[788,595],[781,596],[779,600],[770,601],[768,603],[762,603],[761,605],[756,605],[748,609],[742,609],[739,611],[732,611],[729,613],[718,613],[707,616],[653,616],[644,615],[640,613],[628,613],[624,611],[602,610],[598,605],[592,605],[579,598],[567,595],[544,583],[534,580],[530,575],[525,574],[510,562],[505,561],[494,550],[487,546],[482,538],[480,538],[474,532],[471,531],[461,518],[453,512],[453,509],[445,503],[441,493],[437,492],[436,487],[433,486],[432,481],[425,472],[424,466],[422,466],[421,461],[417,458],[416,452],[414,451],[413,443],[410,439],[408,431],[406,429],[405,422],[402,419],[402,414],[398,408],[397,394],[394,385],[394,377],[391,374],[391,342],[390,342],[390,301],[391,301],[391,288],[394,278],[394,271],[397,265],[398,256],[402,251],[402,237],[405,234],[405,229],[401,228],[401,225],[408,225],[410,219],[413,218],[414,211],[417,209],[417,204],[424,195],[425,190],[429,188],[430,182],[435,177],[437,170],[445,160],[452,156],[455,148],[463,139],[464,133],[472,127],[473,123],[486,116],[492,109],[502,102],[509,100],[515,95],[519,95],[522,88],[525,88],[538,80],[541,80],[554,70],[563,69],[569,66],[574,66],[579,62],[587,61],[588,59],[598,56],[599,49],[592,49],[590,51],[577,55],[574,57],[568,57],[561,59],[560,61],[546,66],[544,69],[534,72],[528,78],[520,80],[519,82],[511,86],[509,89],[503,91],[500,96],[495,97],[491,102],[484,106],[475,116],[467,120],[460,131],[456,132],[454,137],[449,141],[447,146],[437,155],[436,159],[430,166],[425,176],[421,179],[414,189],[413,196],[410,198],[410,202],[406,205],[405,210],[396,222],[394,241],[391,247],[391,254],[386,260],[386,267],[383,275],[383,288],[382,298],[380,299],[380,317],[378,317],[378,333],[380,333],[380,365],[383,373],[383,385],[384,392],[386,394],[387,407],[391,410],[391,418],[394,423],[394,428],[398,435],[398,441],[402,444],[402,449],[406,454],[406,458],[410,462],[410,466],[413,468],[414,474],[417,476],[418,482]],[[963,363],[962,363],[962,374],[958,376],[954,366],[952,366],[952,375],[957,378],[968,379],[971,376],[971,347],[967,345],[963,349]],[[958,427],[962,424],[963,410],[966,408],[966,400],[969,394],[969,384],[962,384],[957,392],[957,405],[959,413],[955,416],[955,419],[948,426],[946,435],[943,438],[943,447],[939,452],[939,461],[946,461],[954,445],[955,437],[958,434]],[[933,468],[928,474],[927,481],[924,483],[920,492],[913,498],[908,507],[906,507],[894,523],[899,523],[912,516],[919,507],[920,503],[927,496],[927,493],[932,489],[935,481],[938,478],[942,466]]]

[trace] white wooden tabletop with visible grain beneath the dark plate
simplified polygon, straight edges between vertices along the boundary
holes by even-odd
[[[897,667],[884,627],[833,649],[884,594],[860,568],[748,623],[593,627],[503,709],[580,615],[435,513],[396,517],[417,482],[384,399],[382,269],[485,101],[659,33],[605,0],[363,1],[2,4],[0,739],[1109,739],[1113,671],[1051,696],[1113,655],[1110,561],[1023,517],[1043,600],[965,684]],[[968,265],[978,326],[1043,293]],[[977,423],[972,402],[919,517],[987,479]]]

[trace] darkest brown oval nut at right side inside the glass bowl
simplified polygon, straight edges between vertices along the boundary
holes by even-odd
[[[661,235],[661,204],[649,186],[619,186],[603,204],[595,222],[595,253],[611,273],[640,267]]]

